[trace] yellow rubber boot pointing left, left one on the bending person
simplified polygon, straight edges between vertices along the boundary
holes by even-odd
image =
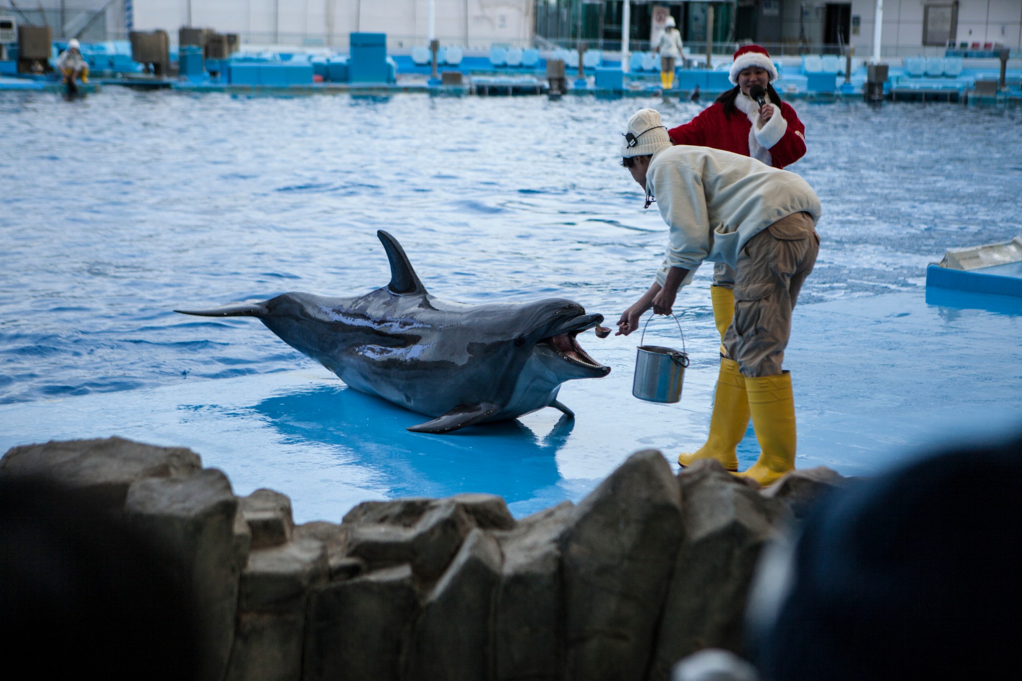
[[[679,465],[685,467],[700,458],[715,458],[729,471],[737,471],[736,449],[748,426],[749,398],[745,394],[745,377],[738,371],[737,361],[721,357],[713,414],[709,418],[709,437],[698,451],[681,454]]]

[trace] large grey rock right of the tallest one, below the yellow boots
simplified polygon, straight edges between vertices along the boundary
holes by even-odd
[[[739,651],[742,622],[759,551],[786,522],[784,503],[761,496],[715,460],[678,476],[685,538],[666,595],[649,678],[707,647]]]

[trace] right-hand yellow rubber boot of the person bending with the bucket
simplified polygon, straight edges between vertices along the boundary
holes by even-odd
[[[752,427],[759,441],[759,460],[743,476],[765,487],[795,470],[795,400],[791,374],[745,379]]]

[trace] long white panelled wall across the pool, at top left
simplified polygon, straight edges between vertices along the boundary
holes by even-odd
[[[0,0],[3,2],[3,0]],[[442,45],[531,47],[536,0],[134,0],[136,31],[182,26],[236,33],[248,45],[347,49],[352,32],[385,33],[397,51],[429,44],[430,5]]]

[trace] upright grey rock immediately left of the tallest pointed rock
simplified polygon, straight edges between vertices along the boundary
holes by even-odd
[[[495,532],[504,553],[494,607],[494,677],[498,681],[560,678],[564,617],[561,612],[560,540],[573,518],[564,501]]]

